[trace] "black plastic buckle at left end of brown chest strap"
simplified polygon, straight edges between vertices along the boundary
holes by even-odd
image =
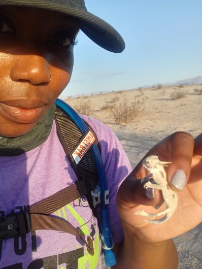
[[[10,214],[0,218],[0,240],[21,236],[30,230],[28,212]]]

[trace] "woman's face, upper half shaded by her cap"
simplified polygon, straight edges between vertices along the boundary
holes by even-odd
[[[68,85],[78,30],[61,13],[1,7],[0,136],[28,132]]]

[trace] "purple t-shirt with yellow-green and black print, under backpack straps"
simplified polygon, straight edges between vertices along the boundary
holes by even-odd
[[[110,226],[114,243],[123,240],[116,211],[116,193],[130,173],[129,160],[114,133],[103,123],[82,116],[98,137],[110,189]],[[56,134],[53,122],[50,136],[37,148],[14,157],[0,157],[0,216],[20,212],[77,181]],[[57,210],[53,215],[68,220],[93,241],[94,255],[75,236],[53,230],[37,230],[21,238],[0,241],[0,268],[83,269],[102,268],[97,219],[85,197]]]

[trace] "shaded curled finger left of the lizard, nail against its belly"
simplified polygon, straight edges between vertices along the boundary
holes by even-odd
[[[146,189],[143,187],[140,179],[134,178],[130,174],[121,184],[117,194],[117,203],[128,207],[136,205],[156,206],[162,202],[162,194],[154,190],[154,198],[152,194],[150,198],[147,196]]]

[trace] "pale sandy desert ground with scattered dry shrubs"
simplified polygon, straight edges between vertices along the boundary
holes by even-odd
[[[132,167],[167,135],[187,131],[195,138],[202,132],[202,85],[158,85],[69,97],[65,102],[107,124],[119,138]],[[124,111],[125,119],[117,111]],[[202,268],[201,242],[202,224],[175,238],[179,269]]]

